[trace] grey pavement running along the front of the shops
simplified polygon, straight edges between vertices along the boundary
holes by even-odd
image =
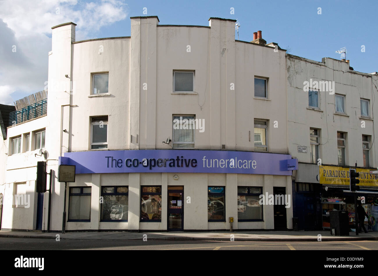
[[[148,240],[224,240],[229,241],[231,234],[234,240],[238,241],[335,241],[335,240],[378,240],[378,231],[361,233],[356,236],[355,232],[349,232],[350,236],[332,236],[330,231],[211,231],[211,232],[155,232],[155,233],[135,233],[135,232],[66,232],[62,233],[42,233],[40,231],[0,231],[0,237],[20,237],[20,238],[46,238],[55,239],[60,235],[60,239],[77,240],[141,240],[147,234]]]

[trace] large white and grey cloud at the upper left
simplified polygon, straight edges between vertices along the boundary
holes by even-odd
[[[101,27],[125,19],[126,9],[120,0],[0,1],[0,103],[12,103],[14,91],[17,100],[43,90],[52,26],[74,22],[76,40],[93,38]]]

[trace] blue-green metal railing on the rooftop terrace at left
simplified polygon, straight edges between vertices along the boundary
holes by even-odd
[[[9,124],[14,126],[47,114],[47,99],[9,113]]]

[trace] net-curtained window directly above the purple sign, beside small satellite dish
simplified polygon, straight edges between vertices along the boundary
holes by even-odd
[[[194,149],[194,116],[173,116],[173,147]]]

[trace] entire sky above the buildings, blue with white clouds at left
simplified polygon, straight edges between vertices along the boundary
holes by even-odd
[[[20,50],[17,58],[1,53],[9,45],[0,42],[0,103],[9,104],[43,90],[51,26],[77,23],[76,40],[130,36],[130,17],[146,16],[145,7],[147,16],[158,16],[160,24],[208,26],[209,17],[237,19],[241,24],[240,40],[251,41],[253,32],[261,30],[266,42],[277,42],[290,54],[317,61],[322,57],[340,59],[335,51],[346,47],[354,70],[378,71],[377,1],[6,0],[0,2],[0,36],[14,40],[12,43],[20,45]],[[231,7],[234,14],[230,13]],[[41,22],[41,18],[45,20]],[[6,67],[5,61],[11,66]]]

